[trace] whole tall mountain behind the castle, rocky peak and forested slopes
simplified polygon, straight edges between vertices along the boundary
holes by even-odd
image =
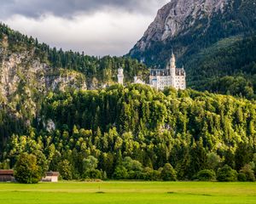
[[[173,50],[177,64],[187,71],[190,88],[226,94],[230,89],[220,92],[213,84],[230,76],[238,82],[233,82],[235,94],[252,98],[256,90],[255,11],[253,0],[172,0],[160,8],[129,55],[163,68]]]

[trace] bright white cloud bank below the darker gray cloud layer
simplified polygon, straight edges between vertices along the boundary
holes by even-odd
[[[151,21],[151,17],[142,14],[112,11],[78,15],[72,20],[53,15],[44,15],[39,20],[15,15],[7,24],[52,47],[90,55],[122,55],[142,37]]]

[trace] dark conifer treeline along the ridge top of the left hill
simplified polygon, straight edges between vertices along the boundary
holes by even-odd
[[[137,59],[128,57],[94,57],[79,52],[63,51],[62,49],[50,48],[46,43],[38,43],[38,39],[22,35],[19,31],[13,31],[8,26],[0,24],[0,42],[3,37],[8,37],[9,54],[29,51],[41,62],[59,69],[69,69],[79,71],[90,79],[103,83],[116,81],[117,69],[123,67],[125,70],[125,80],[131,82],[136,75],[147,76],[148,70],[145,65],[139,63]],[[86,48],[85,48],[86,49]]]

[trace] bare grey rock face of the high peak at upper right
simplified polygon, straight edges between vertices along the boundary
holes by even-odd
[[[165,41],[194,26],[195,20],[210,19],[211,15],[223,12],[230,0],[172,0],[160,8],[154,22],[148,27],[136,48],[144,51],[152,41]]]

